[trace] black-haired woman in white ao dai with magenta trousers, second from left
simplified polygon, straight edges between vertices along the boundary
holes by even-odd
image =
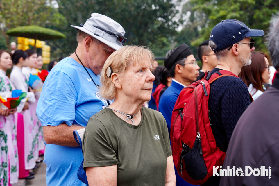
[[[33,178],[30,177],[29,170],[36,165],[34,159],[35,145],[33,145],[33,121],[31,122],[30,105],[35,103],[35,94],[28,91],[28,79],[22,73],[22,67],[27,67],[29,60],[28,54],[22,50],[16,50],[12,56],[14,64],[10,74],[10,80],[16,89],[27,92],[26,109],[22,113],[18,113],[17,123],[17,138],[18,138],[18,153],[19,153],[19,178]]]

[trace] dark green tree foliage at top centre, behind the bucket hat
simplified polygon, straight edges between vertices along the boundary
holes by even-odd
[[[62,32],[67,40],[54,41],[64,53],[71,53],[77,45],[76,29],[96,12],[111,17],[120,23],[126,31],[127,44],[157,46],[164,38],[175,35],[178,22],[173,21],[177,14],[171,0],[58,0],[59,12],[67,19]],[[167,46],[168,47],[168,46]],[[156,48],[156,47],[155,47]],[[156,48],[161,53],[160,47]]]

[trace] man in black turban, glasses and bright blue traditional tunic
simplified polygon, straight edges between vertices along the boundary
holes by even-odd
[[[190,85],[193,81],[196,81],[199,76],[198,70],[200,67],[198,67],[196,59],[187,44],[182,44],[173,50],[169,50],[166,54],[164,64],[172,76],[172,82],[171,86],[167,88],[160,98],[159,111],[167,121],[170,134],[171,114],[176,99],[184,87]],[[181,178],[176,172],[176,185],[186,186],[191,184],[183,180],[183,178]]]

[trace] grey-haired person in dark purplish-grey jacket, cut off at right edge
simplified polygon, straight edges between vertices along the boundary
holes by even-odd
[[[222,176],[220,185],[278,185],[279,156],[279,15],[270,21],[266,41],[277,69],[272,87],[239,118],[222,168],[242,167],[244,176]],[[248,131],[248,132],[247,132]],[[246,171],[247,170],[247,171]]]

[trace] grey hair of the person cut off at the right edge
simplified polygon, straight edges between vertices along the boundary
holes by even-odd
[[[272,64],[276,70],[279,70],[279,13],[271,18],[267,34],[267,46]]]

